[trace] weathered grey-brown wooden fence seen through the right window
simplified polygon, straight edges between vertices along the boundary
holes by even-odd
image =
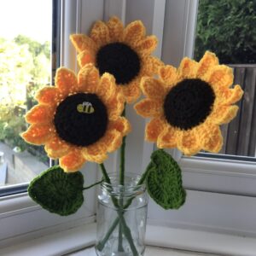
[[[240,84],[244,95],[238,102],[239,112],[229,125],[221,127],[224,147],[221,154],[256,157],[256,65],[230,65],[234,84]]]

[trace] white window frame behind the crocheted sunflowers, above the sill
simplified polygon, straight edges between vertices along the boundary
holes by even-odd
[[[108,20],[112,15],[119,16],[125,24],[132,20],[143,20],[147,33],[159,38],[154,55],[161,57],[166,64],[177,67],[183,56],[193,56],[198,0],[62,0],[62,3],[61,65],[65,67],[78,71],[76,52],[69,35],[74,32],[88,33],[94,21]],[[147,120],[137,116],[132,106],[128,106],[127,117],[131,120],[133,131],[127,138],[125,168],[129,172],[142,173],[148,165],[154,145],[143,142]],[[216,242],[230,239],[237,243],[238,235],[256,236],[253,213],[256,212],[255,163],[187,158],[177,150],[169,152],[183,170],[183,183],[188,197],[178,211],[165,211],[154,201],[149,201],[150,232],[147,243],[211,253],[236,252],[237,255],[243,255],[247,247],[246,255],[253,255],[249,251],[254,240],[252,244],[251,241],[243,243],[240,240],[240,248],[231,248],[229,244],[220,248]],[[111,154],[105,166],[108,172],[117,172],[119,153]],[[88,183],[101,178],[94,164],[86,164],[84,174]],[[0,247],[14,241],[26,241],[30,237],[44,236],[49,231],[67,230],[79,226],[81,222],[91,224],[95,221],[95,212],[96,189],[86,191],[84,206],[67,218],[59,218],[42,210],[26,193],[9,196],[0,201],[1,230],[9,232],[6,236],[0,230],[0,239],[7,237],[0,240]],[[20,226],[18,231],[15,230],[16,226]],[[90,225],[90,232],[91,229]],[[172,239],[166,239],[170,236]],[[190,242],[184,242],[184,237]],[[211,242],[202,246],[201,240],[196,241],[195,237],[205,237]],[[255,247],[253,250],[255,252]]]

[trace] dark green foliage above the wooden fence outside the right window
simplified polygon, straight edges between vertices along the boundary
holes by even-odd
[[[255,0],[200,0],[195,59],[209,49],[224,64],[256,63],[255,24]]]

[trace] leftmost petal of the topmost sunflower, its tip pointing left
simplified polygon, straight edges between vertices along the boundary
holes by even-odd
[[[73,34],[70,35],[69,38],[79,53],[84,51],[84,49],[90,51],[91,53],[96,53],[95,42],[84,34]]]

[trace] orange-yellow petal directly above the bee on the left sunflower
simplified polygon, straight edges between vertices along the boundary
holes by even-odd
[[[100,81],[99,71],[92,64],[82,67],[78,74],[79,90],[95,93]]]

